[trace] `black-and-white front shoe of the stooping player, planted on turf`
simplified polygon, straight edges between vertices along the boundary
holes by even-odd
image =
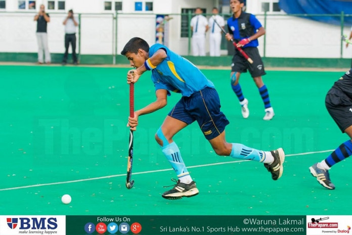
[[[181,183],[180,180],[171,179],[174,181],[174,187],[171,190],[164,192],[161,196],[164,199],[182,199],[183,197],[193,197],[199,193],[198,188],[196,186],[196,182],[192,181],[189,184]],[[172,186],[172,185],[171,185]],[[166,186],[169,187],[169,186]]]

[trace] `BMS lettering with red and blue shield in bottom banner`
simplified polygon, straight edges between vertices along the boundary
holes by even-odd
[[[56,229],[58,227],[57,218],[7,218],[7,224],[11,229],[15,229],[17,224],[19,229]]]

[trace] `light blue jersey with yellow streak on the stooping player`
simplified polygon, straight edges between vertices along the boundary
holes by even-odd
[[[149,57],[159,50],[163,49],[167,57],[152,69],[152,81],[155,90],[167,90],[181,93],[183,96],[191,96],[194,92],[203,88],[214,88],[214,84],[210,82],[205,75],[189,60],[172,52],[161,44],[155,44],[149,49]]]

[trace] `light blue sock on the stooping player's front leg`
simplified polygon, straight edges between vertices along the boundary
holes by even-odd
[[[189,181],[189,179],[191,179],[190,173],[187,171],[186,165],[181,157],[181,152],[177,144],[175,142],[171,142],[168,145],[161,147],[161,150],[181,182],[183,182],[182,178],[188,179],[186,181]]]

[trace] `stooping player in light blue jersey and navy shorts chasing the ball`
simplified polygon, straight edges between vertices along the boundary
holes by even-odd
[[[182,94],[180,101],[171,109],[155,134],[156,141],[178,177],[174,187],[162,194],[163,198],[181,199],[199,193],[196,183],[187,171],[179,147],[172,140],[175,134],[194,121],[198,122],[205,138],[218,155],[263,163],[271,172],[273,180],[281,177],[285,159],[282,148],[262,151],[226,141],[225,127],[229,121],[220,111],[219,96],[212,82],[194,64],[161,44],[149,47],[139,37],[131,38],[121,54],[135,68],[127,73],[128,84],[136,83],[142,73],[151,70],[155,85],[156,100],[135,111],[134,117],[128,117],[127,125],[131,130],[136,130],[139,116],[164,107],[170,91]]]

